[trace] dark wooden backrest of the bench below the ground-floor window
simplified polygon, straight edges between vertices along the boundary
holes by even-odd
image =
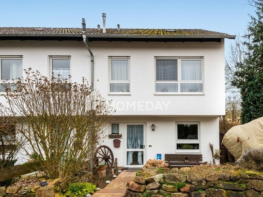
[[[189,162],[202,162],[202,154],[165,154],[165,161],[185,161],[188,158]]]

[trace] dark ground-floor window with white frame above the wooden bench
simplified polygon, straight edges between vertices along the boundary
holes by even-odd
[[[199,130],[199,122],[176,122],[176,152],[199,152]]]

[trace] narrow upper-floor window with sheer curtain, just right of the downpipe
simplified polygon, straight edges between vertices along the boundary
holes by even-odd
[[[129,58],[109,58],[109,92],[130,92]]]

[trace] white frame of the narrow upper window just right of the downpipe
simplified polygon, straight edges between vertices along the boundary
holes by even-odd
[[[128,61],[128,80],[111,80],[111,60],[127,60]],[[108,57],[108,95],[130,95],[131,94],[131,83],[130,83],[130,57],[125,56],[125,57],[113,57],[109,56]],[[129,84],[129,91],[128,92],[111,92],[110,91],[110,84],[111,83],[127,83]]]

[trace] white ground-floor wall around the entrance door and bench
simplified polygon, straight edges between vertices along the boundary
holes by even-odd
[[[119,117],[116,122],[120,123],[145,123],[146,124],[146,161],[156,159],[156,154],[176,153],[175,122],[200,122],[200,153],[203,161],[212,161],[209,143],[213,143],[214,149],[219,149],[219,121],[213,117]],[[151,125],[155,124],[155,131]],[[109,129],[105,130],[108,135]],[[125,129],[120,129],[123,136]],[[118,166],[126,166],[125,146],[126,138],[120,138],[120,148],[113,147],[113,139],[106,137],[103,144],[108,146],[115,158],[118,158]],[[152,147],[149,147],[151,145]],[[192,152],[188,152],[192,153]]]

